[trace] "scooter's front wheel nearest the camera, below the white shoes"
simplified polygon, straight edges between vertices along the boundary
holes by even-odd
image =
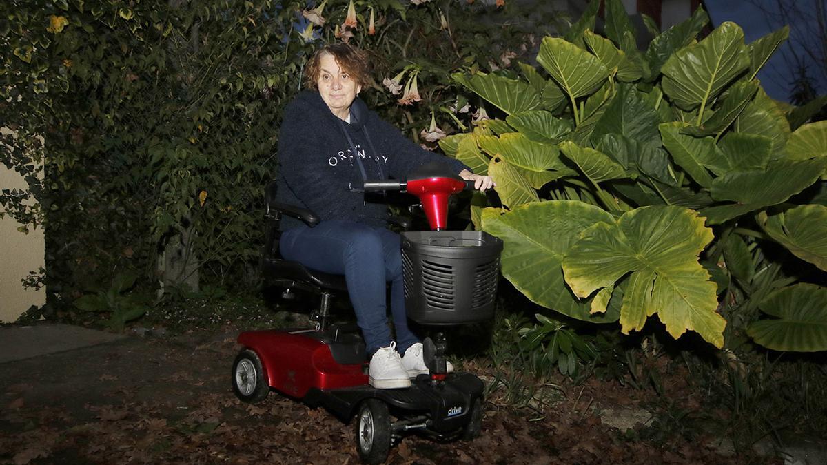
[[[377,399],[361,403],[356,414],[356,450],[365,463],[384,463],[390,452],[388,405]]]

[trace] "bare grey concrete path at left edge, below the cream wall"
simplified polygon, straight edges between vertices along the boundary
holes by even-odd
[[[69,324],[8,326],[0,328],[0,363],[111,343],[124,337]]]

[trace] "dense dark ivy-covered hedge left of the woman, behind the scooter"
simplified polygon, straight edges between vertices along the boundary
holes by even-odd
[[[250,213],[286,94],[268,6],[12,7],[3,119],[12,164],[45,162],[50,290],[74,299],[127,269],[150,280],[178,237],[218,276],[255,255]]]

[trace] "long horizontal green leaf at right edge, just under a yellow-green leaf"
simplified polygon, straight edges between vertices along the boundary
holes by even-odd
[[[701,213],[707,223],[724,223],[743,213],[781,204],[815,183],[827,167],[827,159],[772,161],[766,170],[732,170],[716,178],[710,194],[719,201],[735,204],[716,205]]]

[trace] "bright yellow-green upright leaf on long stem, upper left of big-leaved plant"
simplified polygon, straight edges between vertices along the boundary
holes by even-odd
[[[543,37],[537,61],[571,99],[594,93],[609,77],[595,55],[557,37]]]

